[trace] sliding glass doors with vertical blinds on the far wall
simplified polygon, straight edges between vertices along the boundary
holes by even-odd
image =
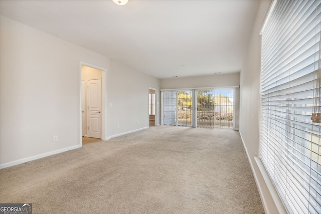
[[[233,128],[233,89],[162,91],[162,124]],[[196,117],[194,120],[193,118]]]

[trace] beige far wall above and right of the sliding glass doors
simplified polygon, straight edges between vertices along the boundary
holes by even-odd
[[[211,76],[170,78],[161,80],[161,89],[229,87],[240,85],[240,73],[218,74]],[[235,129],[239,129],[240,89],[235,88]]]

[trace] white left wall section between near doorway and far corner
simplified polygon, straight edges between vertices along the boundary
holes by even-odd
[[[158,89],[156,94],[159,94],[159,79],[110,60],[109,87],[110,96],[107,108],[109,108],[111,121],[108,125],[110,136],[115,137],[133,130],[147,128],[149,87]],[[110,103],[112,107],[109,107]],[[159,107],[157,106],[155,117],[159,118]]]

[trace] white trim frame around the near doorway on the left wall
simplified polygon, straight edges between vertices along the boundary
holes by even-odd
[[[91,68],[95,68],[98,70],[102,71],[102,78],[101,78],[101,135],[102,135],[102,140],[107,140],[107,112],[106,112],[106,95],[107,95],[107,69],[102,68],[99,66],[92,65],[90,63],[85,63],[80,61],[79,62],[79,144],[82,146],[82,136],[81,136],[81,131],[82,131],[82,122],[81,122],[81,66],[87,66]]]

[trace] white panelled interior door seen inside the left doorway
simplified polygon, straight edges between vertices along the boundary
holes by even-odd
[[[88,137],[101,139],[101,78],[88,80]]]

